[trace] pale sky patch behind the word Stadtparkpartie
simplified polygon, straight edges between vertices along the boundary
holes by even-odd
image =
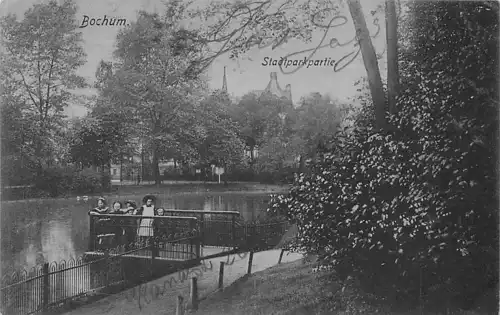
[[[365,11],[366,22],[372,36],[375,34],[377,28],[372,24],[373,17],[369,12],[381,2],[383,3],[383,1],[380,0],[361,0],[363,11]],[[279,66],[263,65],[263,63],[265,64],[266,57],[279,60],[280,57],[286,57],[295,52],[313,49],[321,44],[323,36],[325,36],[323,44],[328,44],[333,38],[336,38],[339,43],[349,42],[354,38],[355,30],[349,12],[344,12],[344,15],[348,18],[346,24],[337,28],[332,28],[326,35],[322,30],[316,31],[311,43],[304,43],[300,40],[292,39],[274,50],[271,47],[265,49],[253,48],[238,60],[231,60],[227,55],[220,56],[214,61],[208,71],[210,86],[213,88],[220,88],[222,86],[224,66],[227,66],[226,75],[228,80],[228,92],[235,96],[241,96],[252,89],[264,89],[269,82],[270,72],[274,71],[278,73],[278,82],[282,88],[284,88],[286,84],[291,84],[294,102],[299,101],[300,97],[312,92],[320,92],[322,94],[328,93],[340,100],[349,99],[357,93],[356,90],[358,87],[354,86],[354,82],[366,76],[361,53],[358,54],[352,63],[337,72],[334,71],[332,66],[311,66],[309,68],[303,67],[297,70],[297,67],[293,66],[280,69]],[[380,32],[377,37],[372,39],[372,42],[377,54],[382,54],[382,58],[379,59],[378,62],[381,75],[385,78],[387,68],[385,61],[384,16],[381,15],[379,20]],[[325,58],[340,60],[349,53],[356,51],[357,48],[354,48],[353,44],[335,48],[325,47],[311,56],[310,60],[321,60]],[[292,60],[300,60],[304,57],[309,57],[310,54],[311,51],[308,51],[289,58]]]

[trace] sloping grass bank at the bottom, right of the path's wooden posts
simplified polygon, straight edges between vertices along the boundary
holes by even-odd
[[[419,310],[392,312],[388,307],[370,305],[354,293],[352,286],[343,290],[335,272],[313,273],[313,263],[303,260],[278,265],[252,274],[209,296],[196,314],[203,315],[312,315],[312,314],[390,314],[417,315]],[[485,312],[450,312],[455,314],[488,314]]]

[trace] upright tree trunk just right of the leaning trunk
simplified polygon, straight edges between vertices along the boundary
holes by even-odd
[[[398,70],[398,20],[394,0],[385,0],[385,25],[387,38],[387,95],[389,113],[396,113],[396,97],[399,92]]]

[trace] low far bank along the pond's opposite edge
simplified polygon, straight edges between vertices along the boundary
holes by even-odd
[[[186,189],[188,188],[188,189]],[[89,198],[95,198],[97,196],[105,197],[122,197],[127,195],[169,195],[169,194],[192,194],[192,193],[217,193],[217,194],[234,194],[238,192],[244,192],[246,194],[262,194],[262,193],[285,193],[288,191],[289,185],[272,185],[272,184],[261,184],[255,182],[228,182],[227,185],[217,182],[200,182],[200,181],[168,181],[162,183],[159,187],[154,185],[154,183],[147,182],[141,185],[132,185],[131,183],[126,183],[123,185],[114,184],[110,192],[100,192],[89,194]],[[22,191],[16,193],[2,192],[1,200],[2,202],[31,202],[37,200],[59,200],[59,199],[73,199],[78,197],[78,194],[70,194],[67,196],[61,196],[56,198],[29,198],[23,195]],[[81,194],[80,194],[81,196]]]

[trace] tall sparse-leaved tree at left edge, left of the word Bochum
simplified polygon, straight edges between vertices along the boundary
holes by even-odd
[[[38,171],[54,158],[52,144],[63,125],[63,110],[76,99],[71,90],[85,86],[76,74],[85,53],[75,15],[74,2],[65,0],[36,4],[22,20],[15,15],[0,19],[2,86],[22,105],[17,115],[29,121],[22,133],[30,138],[33,154],[27,157]]]

